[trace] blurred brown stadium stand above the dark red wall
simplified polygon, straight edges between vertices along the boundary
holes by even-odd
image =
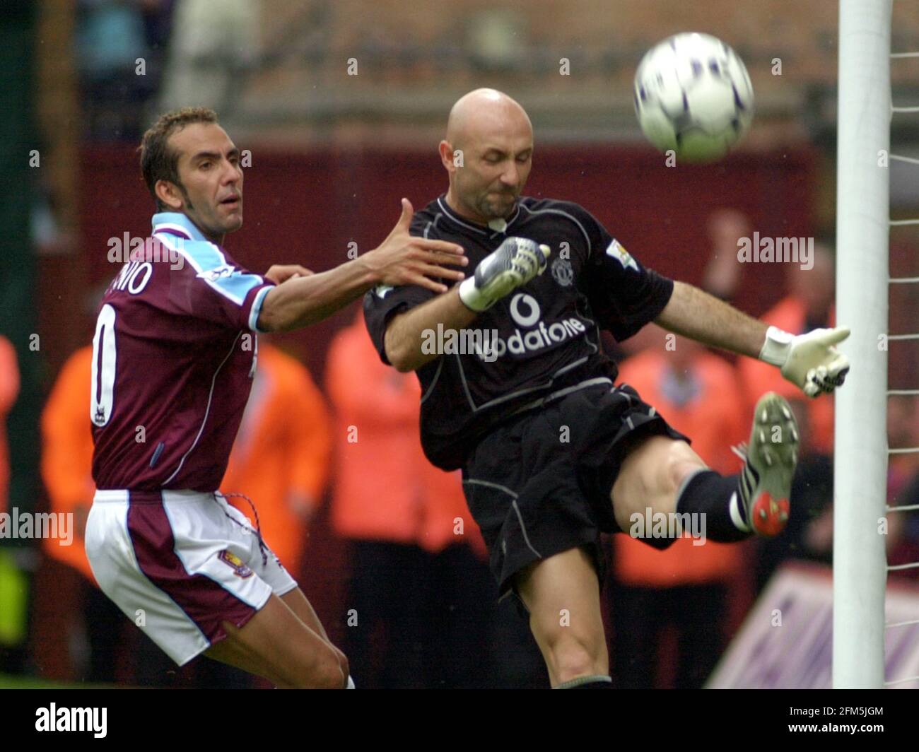
[[[83,0],[77,31],[92,27],[105,6],[119,6],[112,30],[138,37],[129,60],[112,68],[106,81],[95,79],[104,87],[96,92],[102,99],[87,102],[90,111],[108,108],[103,100],[120,86],[122,107],[109,112],[110,137],[132,137],[137,123],[131,127],[124,119],[142,112],[138,100],[147,101],[148,116],[150,105],[171,106],[176,91],[170,79],[190,76],[236,132],[283,142],[360,140],[368,135],[361,123],[373,126],[377,141],[437,134],[446,108],[483,80],[527,101],[544,140],[636,138],[635,64],[653,43],[687,29],[729,40],[747,64],[757,96],[751,142],[825,131],[835,116],[837,18],[830,2]],[[126,17],[130,9],[133,19]],[[901,4],[896,21],[893,49],[908,49],[919,34],[919,10]],[[90,50],[99,46],[86,33],[77,39]],[[122,74],[141,57],[147,72],[131,85]],[[107,58],[96,53],[96,59],[97,68]],[[569,75],[560,74],[563,59]],[[357,74],[353,68],[349,74],[352,60]],[[81,69],[88,74],[96,68],[84,63]],[[153,92],[164,68],[166,100],[157,101]],[[895,91],[919,92],[917,73],[919,61],[897,65]],[[214,76],[229,74],[232,86],[218,85],[215,92]],[[808,110],[804,119],[802,109]],[[104,116],[85,119],[103,129],[105,122]],[[95,128],[93,135],[106,134]]]

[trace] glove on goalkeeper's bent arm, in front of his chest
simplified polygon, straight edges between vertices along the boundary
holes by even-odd
[[[472,277],[459,283],[459,299],[472,311],[485,311],[508,292],[542,274],[549,254],[548,245],[509,237],[482,259]]]

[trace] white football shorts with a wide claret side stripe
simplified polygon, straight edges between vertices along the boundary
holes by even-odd
[[[97,491],[85,541],[99,587],[179,666],[297,587],[220,493]]]

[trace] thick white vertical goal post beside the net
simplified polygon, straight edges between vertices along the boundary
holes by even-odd
[[[836,319],[852,368],[835,393],[833,687],[884,684],[891,0],[840,0]]]

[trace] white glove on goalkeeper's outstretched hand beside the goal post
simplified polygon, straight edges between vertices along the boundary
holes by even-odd
[[[809,397],[829,394],[843,385],[849,372],[849,359],[833,347],[847,336],[848,326],[814,329],[798,336],[770,326],[759,359],[778,366],[782,375]]]

